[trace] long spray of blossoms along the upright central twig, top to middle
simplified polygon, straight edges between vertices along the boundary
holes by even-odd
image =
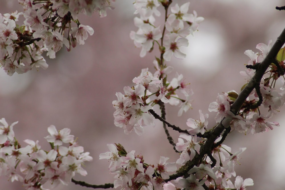
[[[143,126],[153,125],[153,117],[148,111],[155,104],[170,103],[170,105],[180,104],[178,116],[183,111],[188,111],[191,107],[190,97],[193,91],[188,88],[190,83],[184,81],[183,75],[180,74],[170,82],[166,80],[167,75],[173,70],[172,67],[166,66],[164,60],[170,61],[171,56],[176,58],[185,58],[185,54],[180,51],[181,46],[188,46],[187,36],[197,30],[198,25],[203,21],[203,17],[197,17],[197,13],[189,14],[189,3],[181,7],[176,4],[171,7],[172,13],[166,15],[164,30],[161,32],[160,27],[155,27],[154,15],[160,16],[158,7],[162,5],[166,10],[171,2],[168,1],[135,1],[135,26],[139,29],[137,32],[131,31],[130,37],[134,40],[137,47],[141,47],[140,56],[143,57],[154,47],[154,43],[159,45],[161,53],[160,58],[154,60],[155,73],[152,74],[148,68],[143,69],[138,77],[133,79],[136,85],[133,87],[124,87],[125,95],[117,92],[117,101],[113,101],[115,125],[124,129],[129,134],[133,129],[139,135],[143,133]],[[185,25],[185,26],[184,26]],[[158,42],[161,40],[161,44]],[[176,92],[182,93],[185,98],[178,97]]]

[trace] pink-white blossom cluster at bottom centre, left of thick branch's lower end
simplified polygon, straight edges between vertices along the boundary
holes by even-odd
[[[109,171],[115,174],[114,187],[121,189],[163,189],[164,179],[176,171],[176,164],[166,162],[169,158],[160,157],[159,163],[144,163],[143,156],[129,153],[120,144],[107,144],[111,152],[100,154],[100,159],[109,160]]]

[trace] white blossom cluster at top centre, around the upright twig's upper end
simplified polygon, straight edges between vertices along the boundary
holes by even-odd
[[[157,9],[160,5],[167,9],[169,2],[158,0],[135,1],[135,14],[139,14],[139,17],[135,17],[134,22],[139,29],[137,32],[131,31],[130,37],[134,40],[135,46],[141,48],[141,57],[144,57],[148,51],[153,49],[154,42],[159,44],[158,40],[162,39],[159,46],[164,60],[170,61],[173,55],[178,59],[183,59],[186,54],[181,52],[180,47],[188,46],[186,37],[189,34],[193,35],[193,32],[197,30],[199,23],[204,18],[197,17],[196,11],[194,11],[194,14],[187,13],[189,2],[181,5],[181,7],[176,4],[171,7],[171,14],[167,15],[163,32],[161,32],[160,26],[154,24],[154,15],[160,16]]]

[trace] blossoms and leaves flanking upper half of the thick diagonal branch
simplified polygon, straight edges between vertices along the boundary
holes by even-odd
[[[252,50],[245,51],[245,54],[249,56],[251,60],[248,62],[248,68],[245,71],[241,71],[241,75],[246,77],[247,83],[255,74],[255,67],[264,60],[264,57],[268,54],[271,48],[272,40],[268,45],[260,43],[256,48],[260,50],[254,53]],[[230,105],[234,103],[238,94],[235,91],[218,95],[215,102],[210,103],[209,111],[217,112],[215,117],[216,122],[220,122],[223,117],[226,117],[224,123],[230,120],[230,126],[232,129],[239,132],[247,132],[251,129],[252,134],[272,130],[272,126],[279,126],[278,122],[267,122],[266,119],[272,117],[285,102],[285,90],[284,81],[281,88],[276,88],[276,81],[280,77],[280,70],[284,70],[284,48],[282,48],[277,57],[276,63],[272,63],[266,74],[264,74],[260,87],[255,88],[243,106],[239,113],[234,115],[230,111]],[[279,80],[280,81],[280,80]],[[262,110],[266,110],[266,114],[262,114]]]

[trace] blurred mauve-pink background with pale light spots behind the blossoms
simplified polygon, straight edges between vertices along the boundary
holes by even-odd
[[[182,5],[184,0],[174,1]],[[192,110],[177,117],[178,107],[166,106],[167,120],[186,129],[188,118],[198,119],[201,109],[208,113],[209,103],[216,100],[217,94],[236,90],[240,92],[245,80],[239,74],[245,69],[249,58],[245,50],[253,50],[258,43],[273,42],[285,27],[285,11],[276,6],[284,6],[281,0],[216,0],[190,1],[189,13],[196,10],[205,20],[200,24],[194,37],[189,37],[189,47],[184,48],[187,58],[171,58],[170,66],[182,73],[191,83],[194,91]],[[99,160],[99,154],[109,151],[106,144],[121,143],[127,151],[136,150],[149,164],[159,162],[160,156],[169,157],[175,162],[179,155],[174,153],[168,143],[160,122],[154,128],[145,128],[142,136],[135,132],[125,135],[123,129],[113,124],[112,101],[115,93],[123,92],[124,86],[131,86],[132,79],[138,76],[142,68],[154,72],[153,60],[159,56],[155,50],[140,58],[140,49],[135,48],[129,38],[131,30],[137,31],[133,24],[132,1],[117,1],[114,10],[107,10],[107,17],[99,18],[82,15],[82,24],[91,26],[95,32],[89,36],[85,45],[78,45],[71,52],[65,48],[56,55],[56,59],[46,58],[47,70],[29,71],[9,77],[0,70],[0,117],[15,125],[18,141],[25,146],[25,139],[39,140],[44,150],[49,144],[44,139],[48,135],[47,127],[70,128],[71,134],[78,137],[77,142],[90,152],[92,162],[87,162],[86,177],[76,175],[74,179],[91,184],[113,183],[109,174],[107,160]],[[0,13],[22,11],[18,1],[1,0]],[[162,7],[159,9],[162,13]],[[157,18],[157,25],[161,18]],[[255,185],[247,189],[284,189],[285,164],[285,113],[270,119],[280,122],[280,127],[262,134],[240,134],[232,132],[225,144],[232,152],[239,147],[247,147],[241,155],[241,166],[236,166],[237,175],[252,178]],[[209,113],[209,125],[214,126],[215,113]],[[171,130],[170,130],[171,131]],[[179,134],[172,132],[175,142]],[[234,179],[232,180],[234,182]],[[21,190],[21,183],[8,182],[1,177],[1,187],[6,190]],[[60,185],[56,190],[84,190],[71,183]]]

